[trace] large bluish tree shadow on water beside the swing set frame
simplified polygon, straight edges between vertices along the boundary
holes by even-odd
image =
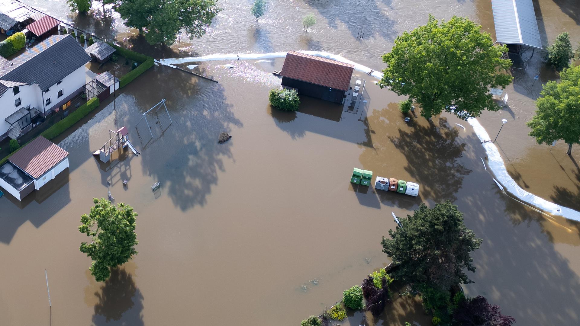
[[[154,73],[150,80],[157,82],[148,87],[153,88],[155,98],[147,102],[157,103],[164,96],[173,123],[168,126],[168,121],[158,125],[149,121],[152,140],[147,140],[148,131],[140,133],[142,142],[147,142],[142,165],[161,183],[173,203],[185,211],[205,204],[212,186],[218,183],[218,172],[224,171],[223,159],[233,160],[235,135],[229,142],[218,144],[219,133],[231,134],[231,128],[241,128],[242,122],[234,116],[221,84],[168,67],[156,67]],[[161,95],[157,88],[164,89]],[[160,113],[164,116],[168,119],[165,112]]]

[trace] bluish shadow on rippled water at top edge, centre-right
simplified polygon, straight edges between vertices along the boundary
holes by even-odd
[[[390,42],[397,37],[396,21],[385,15],[376,0],[352,0],[340,4],[330,0],[305,0],[305,3],[317,10],[328,21],[329,27],[338,30],[339,23],[342,23],[355,38],[360,32],[364,32],[365,38],[377,35]],[[383,0],[383,3],[391,5],[389,0]]]

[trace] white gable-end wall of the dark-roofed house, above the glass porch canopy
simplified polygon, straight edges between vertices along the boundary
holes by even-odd
[[[0,135],[3,135],[10,124],[5,121],[6,117],[10,114],[13,114],[21,107],[35,107],[38,108],[39,111],[42,111],[42,104],[41,100],[39,100],[38,95],[40,94],[40,88],[38,85],[23,85],[20,86],[20,93],[14,95],[14,89],[9,88],[6,92],[0,97]],[[20,97],[21,104],[16,107],[14,105],[14,101]]]

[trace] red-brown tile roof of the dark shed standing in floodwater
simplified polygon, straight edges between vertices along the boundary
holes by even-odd
[[[280,75],[311,84],[347,90],[353,70],[352,64],[290,51],[286,55]]]

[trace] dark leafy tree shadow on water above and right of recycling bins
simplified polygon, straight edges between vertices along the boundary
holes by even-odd
[[[423,198],[435,202],[456,200],[463,178],[472,172],[458,162],[465,143],[456,142],[459,131],[450,128],[446,118],[437,118],[437,125],[415,125],[413,131],[399,130],[389,136],[395,148],[407,160],[405,171],[420,183]]]

